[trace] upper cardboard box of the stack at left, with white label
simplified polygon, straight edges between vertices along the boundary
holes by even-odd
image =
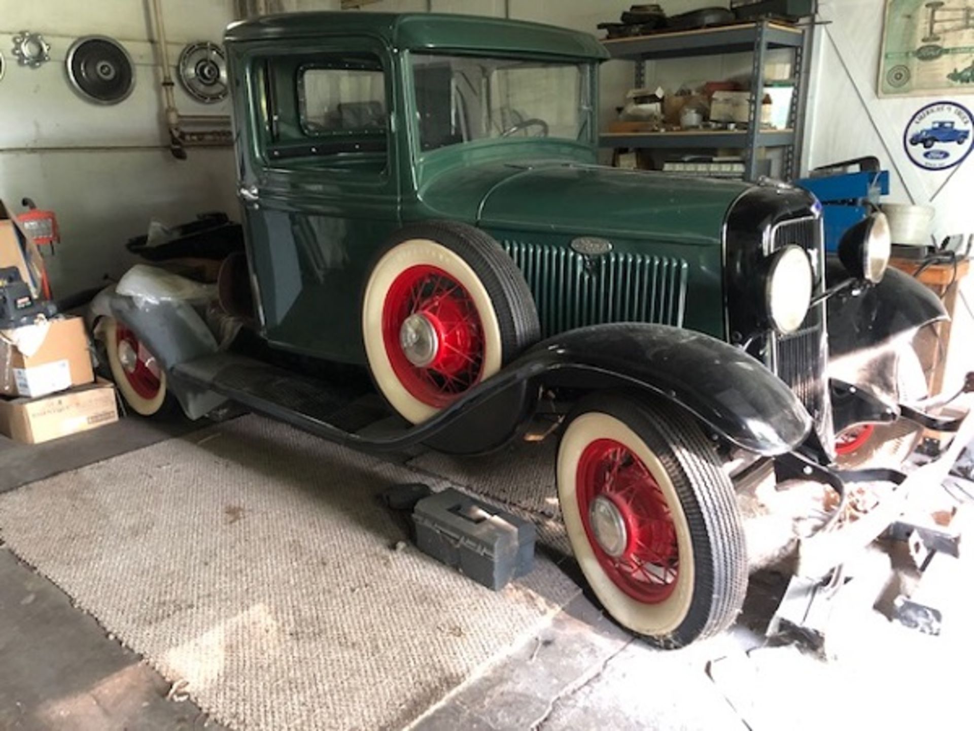
[[[37,398],[92,381],[88,333],[81,318],[52,320],[40,348],[30,356],[0,340],[0,394]]]

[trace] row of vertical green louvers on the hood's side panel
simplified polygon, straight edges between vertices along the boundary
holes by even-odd
[[[602,323],[683,327],[687,262],[611,252],[587,257],[564,247],[504,241],[524,275],[546,337]]]

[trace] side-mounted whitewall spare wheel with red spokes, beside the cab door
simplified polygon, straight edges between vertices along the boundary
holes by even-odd
[[[362,297],[372,378],[414,424],[494,375],[540,332],[517,266],[490,236],[460,223],[401,229],[372,268]]]

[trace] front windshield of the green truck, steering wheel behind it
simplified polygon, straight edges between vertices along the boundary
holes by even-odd
[[[590,141],[584,63],[414,55],[420,146],[491,137]]]

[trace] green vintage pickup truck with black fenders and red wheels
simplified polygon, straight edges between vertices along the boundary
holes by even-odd
[[[842,493],[842,470],[902,457],[919,424],[957,428],[906,404],[926,396],[912,336],[945,314],[886,271],[881,214],[832,260],[798,188],[599,166],[590,35],[302,14],[232,25],[226,50],[245,250],[220,289],[252,298],[272,352],[367,370],[401,428],[329,423],[316,404],[340,389],[227,352],[206,295],[145,266],[92,307],[135,411],[231,400],[461,454],[554,414],[581,570],[661,647],[741,607],[741,475],[773,461]]]

